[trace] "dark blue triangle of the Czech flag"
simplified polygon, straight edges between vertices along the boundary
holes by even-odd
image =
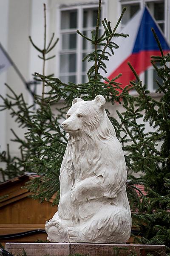
[[[156,24],[153,17],[150,15],[147,7],[144,8],[142,15],[142,20],[139,26],[139,31],[136,37],[136,41],[133,47],[133,53],[147,50],[159,50],[156,40],[151,31],[153,28],[156,32],[156,35],[159,38],[161,47],[163,50],[170,50],[170,46],[167,44],[163,34],[161,33],[158,25]]]

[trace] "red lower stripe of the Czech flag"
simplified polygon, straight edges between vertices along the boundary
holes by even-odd
[[[165,50],[164,54],[167,54],[169,51]],[[116,80],[116,82],[122,83],[121,87],[125,88],[129,81],[136,80],[133,72],[130,70],[130,67],[127,65],[129,61],[134,69],[136,70],[137,74],[140,75],[142,72],[147,70],[148,67],[151,66],[150,63],[150,56],[151,55],[160,55],[159,50],[155,51],[141,51],[139,53],[133,53],[126,60],[116,69],[114,72],[108,77],[109,80],[113,79],[115,76],[122,73],[122,76]]]

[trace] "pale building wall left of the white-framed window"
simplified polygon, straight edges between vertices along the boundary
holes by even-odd
[[[37,57],[38,52],[31,45],[28,36],[31,35],[34,43],[40,48],[43,47],[43,3],[47,2],[48,0],[0,0],[0,24],[3,24],[0,29],[0,42],[27,82],[33,80],[32,73],[42,73],[42,60]],[[48,16],[47,14],[47,26]],[[6,90],[5,82],[17,95],[23,93],[26,102],[32,104],[32,96],[12,66],[0,74],[0,93],[3,96],[6,93],[11,94]],[[20,154],[18,145],[10,142],[14,138],[10,129],[13,128],[20,137],[24,137],[26,130],[18,128],[9,111],[0,112],[0,120],[1,150],[5,150],[6,144],[10,143],[11,154]]]

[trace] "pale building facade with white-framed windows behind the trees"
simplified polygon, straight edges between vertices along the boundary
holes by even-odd
[[[92,45],[77,34],[77,29],[87,36],[95,29],[98,0],[0,0],[0,23],[3,24],[0,29],[0,43],[26,81],[33,80],[34,72],[42,73],[42,61],[37,57],[38,52],[32,47],[28,36],[31,35],[34,43],[40,48],[43,47],[43,3],[46,3],[47,8],[47,41],[50,40],[52,32],[55,32],[55,37],[59,37],[59,43],[51,54],[54,53],[56,57],[46,64],[46,75],[54,73],[54,76],[64,82],[84,83],[87,81],[89,64],[82,63],[82,58],[92,50]],[[122,8],[126,6],[127,11],[119,27],[121,31],[127,21],[144,5],[148,6],[170,42],[170,0],[102,0],[101,16],[102,19],[106,17],[110,20],[114,26]],[[156,89],[155,78],[156,73],[152,67],[141,75],[141,79],[153,94]],[[32,96],[12,66],[0,73],[0,93],[3,96],[9,93],[4,83],[9,84],[17,94],[23,93],[26,102],[32,103]],[[37,92],[41,92],[41,85],[37,85]],[[110,110],[113,116],[116,116],[116,108],[122,107],[112,106]],[[13,138],[10,128],[23,137],[25,131],[18,128],[8,111],[0,113],[0,120],[1,150],[5,150],[6,144],[10,143],[11,154],[19,154],[17,145],[10,142]]]

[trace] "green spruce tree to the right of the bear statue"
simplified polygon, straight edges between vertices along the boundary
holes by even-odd
[[[170,247],[170,54],[164,55],[154,29],[152,29],[155,40],[160,49],[160,56],[151,56],[151,64],[156,70],[157,76],[162,82],[156,80],[158,89],[156,94],[160,100],[150,95],[147,85],[140,81],[140,78],[132,65],[128,63],[130,69],[136,77],[136,82],[130,81],[137,95],[124,101],[125,111],[117,114],[120,122],[114,120],[114,125],[119,130],[119,134],[124,133],[125,138],[130,138],[130,145],[124,145],[124,150],[128,152],[127,166],[133,172],[143,172],[140,179],[135,182],[134,177],[130,177],[127,189],[135,194],[138,189],[135,184],[143,183],[147,195],[138,191],[139,198],[133,197],[131,200],[131,210],[133,212],[133,223],[140,227],[142,239],[138,242],[146,244],[165,244],[167,250]],[[155,94],[155,96],[156,96]],[[142,119],[140,124],[138,119]],[[147,132],[146,122],[149,122],[153,131]],[[121,141],[121,137],[119,137]],[[161,148],[158,149],[158,145]],[[129,165],[128,165],[129,164]],[[135,189],[136,192],[134,190]],[[130,194],[129,194],[130,195]],[[137,199],[137,200],[136,200]]]

